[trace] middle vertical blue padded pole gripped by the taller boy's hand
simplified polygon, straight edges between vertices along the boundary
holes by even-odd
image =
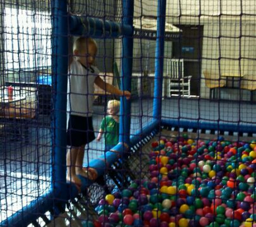
[[[123,0],[122,24],[133,25],[134,1]],[[122,69],[121,69],[121,90],[131,90],[133,67],[133,36],[124,36],[122,39]],[[121,98],[120,105],[120,136],[119,141],[130,143],[130,101],[125,97]]]

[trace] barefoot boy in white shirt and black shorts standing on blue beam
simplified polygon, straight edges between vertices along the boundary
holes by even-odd
[[[92,38],[79,37],[73,45],[74,58],[70,61],[67,85],[67,176],[79,189],[78,175],[92,180],[89,171],[82,168],[85,145],[95,139],[92,123],[94,83],[115,95],[130,98],[129,91],[121,91],[106,83],[93,66],[98,47]]]

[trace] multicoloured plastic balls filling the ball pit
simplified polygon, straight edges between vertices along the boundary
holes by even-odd
[[[149,179],[100,200],[94,226],[256,227],[256,142],[151,143]],[[92,225],[92,223],[87,223]]]

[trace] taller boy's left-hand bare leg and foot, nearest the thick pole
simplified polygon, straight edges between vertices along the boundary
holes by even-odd
[[[77,174],[75,173],[75,165],[77,161],[79,153],[79,148],[69,148],[67,151],[67,176],[66,180],[74,183],[77,186],[81,186],[81,180],[78,178]]]

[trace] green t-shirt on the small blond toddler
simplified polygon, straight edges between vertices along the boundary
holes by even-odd
[[[106,116],[102,119],[100,129],[105,132],[106,145],[116,145],[119,141],[119,123],[113,117]]]

